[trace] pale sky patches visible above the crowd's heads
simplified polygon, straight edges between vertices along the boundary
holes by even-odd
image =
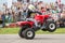
[[[17,1],[17,0],[13,0],[13,2],[15,2],[15,1]],[[36,0],[34,0],[34,1],[36,1]],[[39,1],[50,3],[50,2],[55,2],[56,0],[39,0]],[[61,1],[62,1],[62,3],[65,4],[65,0],[61,0]],[[0,0],[0,4],[2,4],[2,3],[6,3],[9,5],[9,8],[10,8],[12,5],[12,0]]]

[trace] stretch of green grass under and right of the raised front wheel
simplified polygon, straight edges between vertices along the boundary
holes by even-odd
[[[36,33],[38,34],[65,34],[65,28],[58,28],[54,32],[39,30]]]

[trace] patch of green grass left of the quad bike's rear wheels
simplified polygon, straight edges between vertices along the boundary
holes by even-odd
[[[16,34],[20,28],[1,28],[0,34]]]

